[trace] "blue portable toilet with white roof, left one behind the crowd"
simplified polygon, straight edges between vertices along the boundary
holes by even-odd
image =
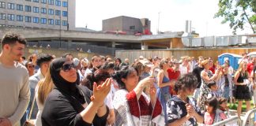
[[[232,68],[234,70],[236,70],[236,69],[239,68],[238,61],[239,61],[240,58],[242,58],[241,55],[225,53],[225,54],[220,54],[218,56],[218,61],[219,61],[220,65],[223,65],[224,61],[228,60],[230,65],[232,66]]]

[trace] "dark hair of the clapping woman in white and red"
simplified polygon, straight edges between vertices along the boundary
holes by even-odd
[[[126,89],[126,84],[122,82],[122,78],[126,79],[127,76],[129,76],[130,73],[134,71],[137,72],[133,67],[129,65],[123,65],[119,71],[112,75],[112,78],[116,80],[117,83],[119,83],[120,89]]]

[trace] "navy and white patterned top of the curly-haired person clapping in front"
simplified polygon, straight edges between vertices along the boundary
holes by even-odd
[[[201,115],[201,111],[197,105],[197,102],[194,98],[187,98],[189,103],[194,107],[194,110]],[[185,117],[186,112],[186,103],[183,102],[179,97],[173,96],[171,100],[167,103],[167,114],[168,114],[168,124],[179,120],[182,117]],[[192,126],[197,125],[197,120],[194,117],[190,117],[189,120],[186,120],[182,126]]]

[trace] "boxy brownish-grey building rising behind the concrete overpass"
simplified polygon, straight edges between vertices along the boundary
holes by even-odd
[[[128,35],[141,33],[143,35],[151,35],[150,31],[151,22],[147,18],[134,18],[134,17],[113,17],[102,21],[102,31],[116,32]]]

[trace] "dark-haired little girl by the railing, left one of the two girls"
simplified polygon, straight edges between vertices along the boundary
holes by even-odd
[[[215,124],[221,120],[227,119],[225,114],[218,108],[218,100],[216,98],[208,98],[205,102],[205,116],[204,123],[205,126]]]

